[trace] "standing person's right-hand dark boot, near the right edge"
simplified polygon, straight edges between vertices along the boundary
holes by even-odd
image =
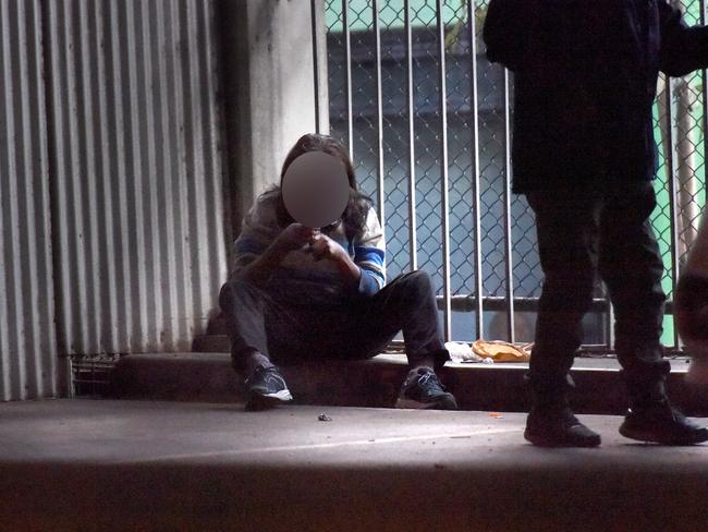
[[[692,445],[708,440],[708,428],[687,420],[667,398],[663,382],[645,389],[627,384],[630,409],[620,434],[639,442],[662,445]]]

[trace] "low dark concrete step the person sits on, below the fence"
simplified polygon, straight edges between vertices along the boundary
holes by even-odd
[[[685,360],[672,360],[672,400],[689,415],[708,415],[707,390],[684,383]],[[523,412],[527,410],[524,374],[527,364],[448,363],[440,376],[463,410]],[[579,413],[620,414],[626,396],[613,358],[578,358],[572,375],[572,402]],[[343,407],[395,403],[407,366],[403,354],[380,354],[366,361],[324,361],[281,366],[295,402]],[[131,354],[118,362],[110,396],[125,399],[239,402],[242,379],[228,353]]]

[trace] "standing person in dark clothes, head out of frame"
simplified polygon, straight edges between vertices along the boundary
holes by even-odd
[[[536,215],[545,274],[524,436],[538,446],[600,444],[567,403],[597,271],[630,398],[620,433],[705,442],[708,430],[667,399],[663,265],[649,215],[658,75],[708,65],[708,28],[687,27],[667,0],[490,0],[484,38],[489,60],[514,73],[513,192]]]

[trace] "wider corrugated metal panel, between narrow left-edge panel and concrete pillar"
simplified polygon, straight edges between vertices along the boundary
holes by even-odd
[[[60,350],[188,350],[225,277],[213,3],[46,2]]]

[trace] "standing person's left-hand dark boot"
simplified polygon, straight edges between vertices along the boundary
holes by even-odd
[[[581,423],[567,403],[572,380],[566,378],[567,384],[556,385],[529,379],[533,403],[524,438],[538,447],[597,447],[600,435]]]

